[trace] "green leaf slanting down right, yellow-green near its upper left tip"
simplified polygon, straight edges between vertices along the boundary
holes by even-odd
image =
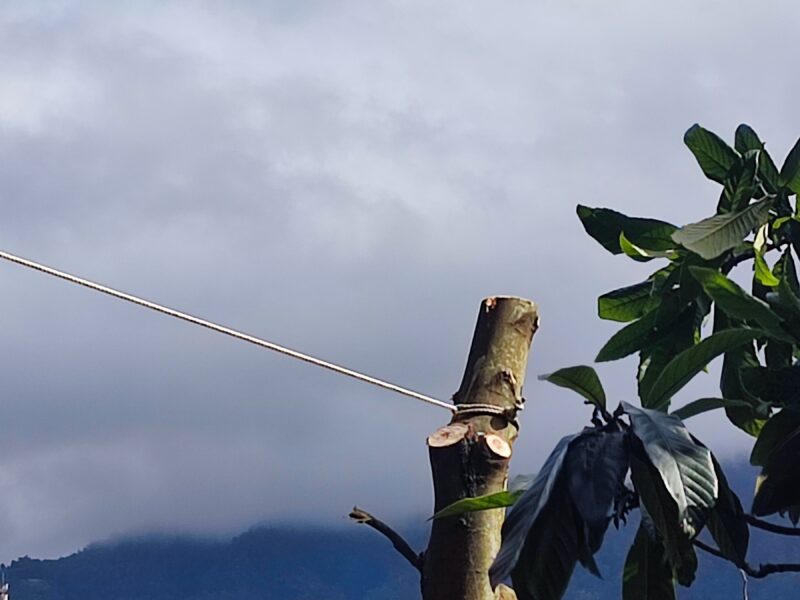
[[[792,337],[781,327],[782,319],[766,302],[754,298],[719,271],[690,267],[692,276],[700,282],[711,299],[728,316],[757,323],[775,339],[791,342]]]

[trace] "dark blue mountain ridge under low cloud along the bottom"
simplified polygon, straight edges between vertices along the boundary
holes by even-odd
[[[753,470],[728,466],[734,489],[749,501]],[[424,546],[422,519],[406,528]],[[620,597],[620,574],[636,523],[613,527],[597,557],[604,579],[580,567],[567,598]],[[750,562],[800,562],[800,539],[753,532]],[[57,560],[20,558],[7,569],[13,600],[400,600],[419,597],[415,571],[376,532],[261,526],[231,540],[140,537],[93,544]],[[751,580],[751,600],[800,598],[800,576]],[[736,568],[700,554],[697,582],[679,588],[681,599],[742,598]]]

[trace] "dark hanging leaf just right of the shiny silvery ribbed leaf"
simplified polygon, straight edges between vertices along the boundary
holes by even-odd
[[[717,542],[720,552],[737,567],[743,567],[750,543],[750,529],[739,497],[731,490],[722,467],[713,456],[712,460],[719,481],[719,499],[711,509],[708,531]]]

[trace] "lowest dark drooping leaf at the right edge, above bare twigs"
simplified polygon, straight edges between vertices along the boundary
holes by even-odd
[[[770,454],[756,482],[752,512],[756,516],[794,510],[800,504],[800,427]]]

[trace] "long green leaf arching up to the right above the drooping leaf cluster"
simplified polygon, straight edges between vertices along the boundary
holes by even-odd
[[[686,385],[692,377],[706,368],[706,365],[720,354],[753,341],[763,332],[754,329],[728,329],[714,333],[699,344],[684,350],[673,358],[642,399],[646,408],[665,410],[670,398]]]

